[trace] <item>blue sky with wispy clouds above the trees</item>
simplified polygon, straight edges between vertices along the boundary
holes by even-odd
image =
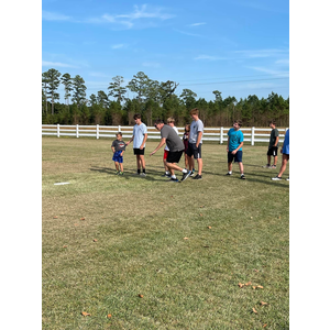
[[[42,72],[50,68],[80,75],[87,97],[144,72],[207,101],[213,90],[287,98],[289,1],[43,0]]]

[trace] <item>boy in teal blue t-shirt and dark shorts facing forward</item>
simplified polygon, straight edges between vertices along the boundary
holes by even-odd
[[[228,173],[227,175],[232,175],[232,161],[239,163],[241,179],[245,179],[244,176],[244,167],[242,163],[243,157],[243,141],[244,135],[240,130],[242,122],[240,120],[235,120],[233,122],[233,128],[228,131],[228,141],[227,141],[227,152],[228,152]]]

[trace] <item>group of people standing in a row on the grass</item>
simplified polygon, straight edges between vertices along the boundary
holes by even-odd
[[[197,108],[190,111],[190,117],[193,122],[186,124],[185,133],[183,139],[179,138],[178,131],[175,127],[174,118],[167,119],[167,124],[163,120],[158,119],[154,122],[155,129],[161,132],[161,142],[156,148],[150,154],[154,155],[162,146],[164,148],[164,176],[169,177],[169,182],[178,183],[178,178],[175,175],[175,170],[182,172],[183,177],[180,182],[186,180],[189,176],[193,179],[201,179],[202,170],[202,158],[201,158],[201,146],[202,146],[202,134],[204,134],[204,123],[199,119],[199,110]],[[133,128],[132,138],[124,143],[122,141],[122,133],[117,133],[117,140],[112,142],[111,148],[113,152],[112,161],[114,161],[116,174],[123,175],[123,153],[125,146],[133,142],[133,152],[136,156],[136,167],[138,170],[134,175],[145,177],[145,142],[147,139],[147,129],[146,125],[141,121],[141,114],[134,114],[135,125]],[[240,130],[242,122],[237,120],[233,122],[233,128],[228,132],[228,142],[227,142],[227,152],[228,152],[228,173],[227,176],[232,175],[232,163],[235,162],[239,164],[240,168],[240,178],[245,179],[244,176],[244,166],[243,166],[243,144],[244,135]],[[270,136],[270,145],[267,151],[267,164],[263,167],[266,168],[276,168],[277,164],[277,150],[278,150],[278,130],[276,129],[276,122],[271,121],[270,127],[272,128]],[[178,166],[178,163],[182,158],[182,155],[185,153],[185,168]],[[285,140],[280,148],[283,154],[282,166],[279,173],[272,178],[272,180],[280,180],[282,175],[286,169],[287,162],[289,160],[289,130],[286,131]],[[271,165],[271,157],[274,157],[274,163]],[[197,161],[197,174],[195,174],[195,161]],[[142,169],[142,172],[141,172]],[[287,178],[289,180],[289,177]]]

